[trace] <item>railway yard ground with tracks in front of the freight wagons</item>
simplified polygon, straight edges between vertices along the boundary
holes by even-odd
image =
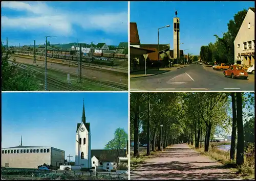
[[[45,57],[36,56],[36,62],[33,62],[33,56],[13,54],[9,61],[13,59],[22,71],[35,73],[41,90],[45,90]],[[77,61],[47,58],[47,90],[127,90],[128,71],[125,67],[128,66],[127,61],[115,60],[115,62],[117,62],[115,67],[82,62],[82,83],[77,83]],[[69,81],[68,74],[70,74]]]

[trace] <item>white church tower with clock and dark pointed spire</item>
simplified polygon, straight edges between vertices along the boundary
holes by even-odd
[[[86,114],[84,111],[84,101],[82,108],[81,123],[77,123],[76,127],[76,157],[75,165],[81,168],[92,168],[91,161],[91,131],[90,123],[86,122]]]

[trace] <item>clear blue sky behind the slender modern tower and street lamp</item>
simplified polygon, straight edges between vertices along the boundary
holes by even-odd
[[[234,14],[254,7],[254,2],[131,2],[130,20],[137,22],[141,44],[168,44],[173,49],[173,18],[180,18],[180,45],[185,54],[199,55],[200,47],[222,36]]]

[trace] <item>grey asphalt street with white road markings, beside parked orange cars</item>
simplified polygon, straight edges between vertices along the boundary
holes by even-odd
[[[248,80],[224,77],[223,71],[205,65],[187,67],[148,77],[131,79],[131,91],[254,91],[254,75]]]

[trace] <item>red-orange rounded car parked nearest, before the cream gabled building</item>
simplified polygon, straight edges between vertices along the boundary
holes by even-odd
[[[224,72],[224,76],[231,76],[232,79],[243,78],[247,79],[248,73],[243,69],[242,66],[231,65]]]

